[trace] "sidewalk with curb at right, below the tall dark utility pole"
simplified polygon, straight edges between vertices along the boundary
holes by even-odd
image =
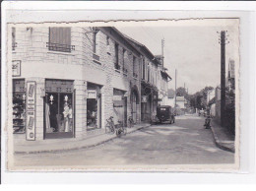
[[[214,134],[217,147],[224,151],[234,153],[234,136],[230,135],[230,133],[226,129],[224,129],[224,127],[218,125],[217,122],[215,122],[214,120],[212,120],[211,123],[211,129]]]

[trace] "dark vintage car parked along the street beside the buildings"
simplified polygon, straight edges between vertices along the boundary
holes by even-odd
[[[153,119],[153,123],[175,122],[174,109],[169,105],[160,105],[157,107],[157,115]]]

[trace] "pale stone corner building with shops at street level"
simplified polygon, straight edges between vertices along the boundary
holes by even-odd
[[[114,28],[12,28],[15,139],[83,139],[141,122],[141,54]]]

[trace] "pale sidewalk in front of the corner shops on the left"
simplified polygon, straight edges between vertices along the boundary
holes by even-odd
[[[142,123],[134,125],[132,128],[127,128],[127,134],[133,133],[142,128],[151,126],[149,123]],[[83,139],[49,139],[40,141],[28,141],[23,144],[14,141],[14,153],[15,154],[35,154],[35,153],[52,153],[62,152],[78,149],[93,148],[113,139],[116,139],[116,135],[105,134],[104,129],[97,131],[95,134],[93,131],[88,133]],[[118,139],[118,138],[117,138]]]

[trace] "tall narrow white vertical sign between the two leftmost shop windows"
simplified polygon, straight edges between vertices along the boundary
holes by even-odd
[[[27,102],[26,102],[26,139],[35,140],[35,104],[36,104],[36,83],[27,82]]]

